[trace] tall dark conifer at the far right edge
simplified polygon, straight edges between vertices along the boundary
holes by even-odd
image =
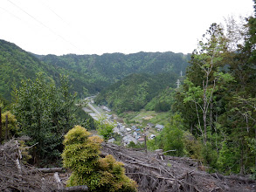
[[[254,1],[254,11],[255,11]],[[255,12],[256,13],[256,12]],[[220,123],[225,130],[225,153],[232,155],[232,161],[239,164],[238,167],[228,163],[221,164],[233,173],[246,174],[256,167],[256,158],[250,141],[256,139],[256,110],[255,110],[255,79],[256,79],[256,14],[246,19],[246,31],[244,32],[244,43],[239,44],[232,53],[230,72],[237,83],[229,85],[232,90],[229,100],[226,102],[226,112],[219,117]],[[249,142],[248,142],[249,141]],[[228,160],[225,160],[228,161]],[[221,162],[219,160],[219,162]]]

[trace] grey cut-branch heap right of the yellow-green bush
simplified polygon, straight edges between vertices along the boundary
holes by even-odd
[[[256,182],[249,178],[208,174],[196,161],[163,155],[161,150],[146,153],[102,143],[101,151],[125,164],[127,175],[138,183],[139,191],[256,191]]]

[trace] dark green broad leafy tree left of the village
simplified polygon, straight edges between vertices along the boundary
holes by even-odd
[[[41,73],[37,79],[22,81],[16,90],[13,112],[22,134],[31,137],[36,161],[55,160],[62,151],[62,137],[75,124],[74,95],[68,92],[67,79],[58,88]]]

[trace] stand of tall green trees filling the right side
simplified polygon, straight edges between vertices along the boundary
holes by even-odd
[[[248,18],[246,31],[239,34],[244,44],[233,41],[232,31],[226,36],[219,25],[211,25],[172,106],[195,138],[184,140],[188,154],[225,174],[254,174],[255,19]]]

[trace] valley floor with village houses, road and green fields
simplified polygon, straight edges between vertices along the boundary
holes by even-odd
[[[114,127],[113,133],[118,136],[111,137],[107,142],[119,140],[119,144],[128,145],[131,141],[135,144],[144,144],[145,138],[152,140],[163,130],[168,123],[170,113],[156,113],[154,111],[126,112],[118,115],[107,106],[94,104],[95,96],[87,97],[86,107],[83,110],[89,113],[94,120]],[[154,124],[152,123],[154,122]],[[161,125],[163,123],[163,125]],[[95,135],[96,132],[93,131]],[[117,139],[118,138],[118,139]]]

